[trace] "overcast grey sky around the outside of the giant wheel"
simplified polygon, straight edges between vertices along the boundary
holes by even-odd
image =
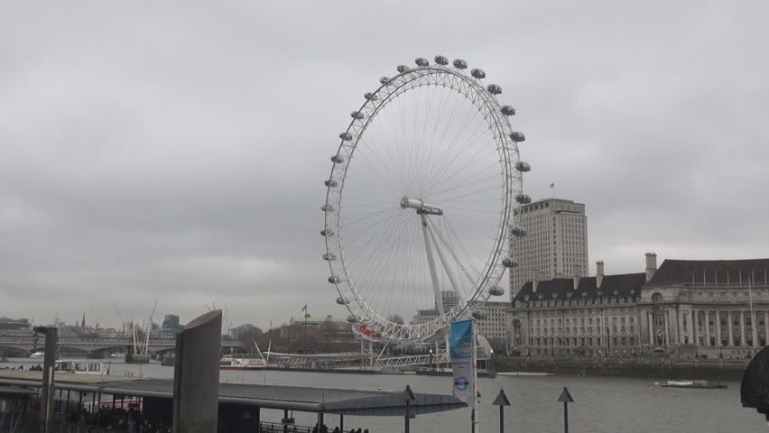
[[[769,256],[763,0],[109,3],[0,5],[0,316],[346,316],[329,155],[436,54],[505,89],[524,189],[587,205],[590,263]]]

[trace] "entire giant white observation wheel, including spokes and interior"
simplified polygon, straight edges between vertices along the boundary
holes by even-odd
[[[465,60],[416,59],[379,79],[331,156],[323,258],[369,339],[420,341],[500,297],[523,194],[512,106]]]

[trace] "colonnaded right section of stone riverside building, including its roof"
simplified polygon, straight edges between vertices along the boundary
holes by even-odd
[[[638,302],[641,342],[697,357],[746,357],[769,336],[769,259],[666,260]]]

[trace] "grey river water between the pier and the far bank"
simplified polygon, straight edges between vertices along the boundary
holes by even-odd
[[[21,360],[19,360],[21,361]],[[29,360],[23,360],[25,369]],[[107,360],[105,360],[107,362]],[[0,364],[18,367],[20,364]],[[125,372],[148,377],[172,378],[173,367],[160,364],[111,363],[112,375]],[[254,371],[222,371],[221,382],[268,383],[280,385],[352,388],[359,390],[403,391],[406,384],[414,392],[451,392],[451,378],[414,374],[339,374]],[[659,378],[665,380],[666,378]],[[479,379],[482,395],[481,432],[499,431],[498,409],[491,405],[497,392],[505,389],[512,406],[505,409],[505,431],[561,432],[563,406],[555,402],[564,386],[574,403],[569,407],[572,432],[648,433],[648,432],[748,432],[766,431],[764,417],[739,402],[739,383],[725,382],[726,390],[688,390],[653,386],[654,379],[618,377],[576,377],[561,375],[499,375]],[[263,410],[264,421],[280,421],[283,412]],[[295,412],[297,424],[314,425],[315,416]],[[469,431],[470,411],[451,410],[420,415],[412,419],[414,432]],[[338,418],[326,416],[333,428]],[[345,417],[345,428],[368,428],[371,433],[403,431],[400,417]]]

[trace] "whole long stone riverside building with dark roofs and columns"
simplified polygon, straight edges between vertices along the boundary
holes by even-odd
[[[665,260],[645,272],[529,281],[507,309],[508,350],[528,356],[742,358],[767,344],[769,259]]]

